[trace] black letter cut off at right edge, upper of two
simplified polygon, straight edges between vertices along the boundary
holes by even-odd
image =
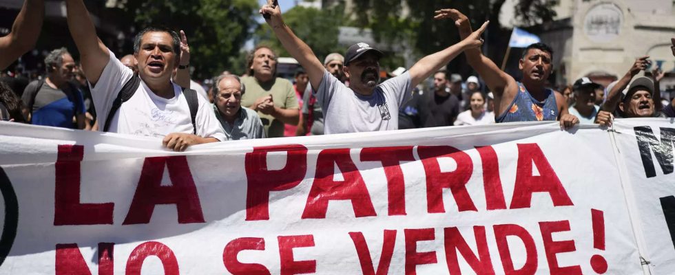
[[[652,162],[652,153],[656,156],[658,165],[661,166],[663,174],[668,175],[673,173],[673,142],[675,137],[675,129],[660,128],[661,142],[656,140],[654,132],[650,126],[637,126],[634,128],[635,136],[638,140],[638,148],[640,148],[640,156],[642,157],[642,165],[645,167],[645,175],[647,177],[656,177],[656,170],[654,170],[654,162]]]

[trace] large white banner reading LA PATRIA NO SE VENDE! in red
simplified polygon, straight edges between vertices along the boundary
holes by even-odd
[[[0,274],[643,274],[610,134],[194,146],[0,123]]]

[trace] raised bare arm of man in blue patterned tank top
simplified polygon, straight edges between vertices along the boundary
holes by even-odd
[[[455,9],[437,10],[434,19],[453,19],[457,29],[459,30],[459,37],[466,39],[472,34],[471,24],[468,18]],[[484,56],[480,47],[474,47],[464,51],[466,60],[469,65],[478,72],[483,78],[486,85],[490,88],[496,97],[501,98],[501,95],[506,89],[517,89],[516,80],[505,72],[501,71],[497,65]]]

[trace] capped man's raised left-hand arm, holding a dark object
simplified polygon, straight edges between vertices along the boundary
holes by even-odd
[[[265,21],[267,21],[272,30],[274,30],[274,34],[276,34],[281,45],[283,45],[287,52],[302,65],[304,71],[307,72],[309,83],[311,83],[312,87],[318,88],[326,69],[324,69],[321,61],[316,58],[314,52],[309,48],[307,43],[304,43],[298,36],[295,36],[293,31],[291,31],[291,28],[284,23],[279,5],[273,5],[273,1],[268,0],[267,5],[263,5],[260,9],[260,14],[269,14],[269,18],[265,18]],[[295,123],[298,123],[297,118]]]

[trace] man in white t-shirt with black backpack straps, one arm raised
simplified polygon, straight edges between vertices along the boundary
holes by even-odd
[[[65,3],[68,27],[90,83],[98,124],[105,125],[114,100],[134,73],[98,39],[83,1],[67,0]],[[110,116],[108,131],[163,137],[163,145],[174,151],[225,140],[216,116],[201,96],[197,96],[198,109],[193,124],[185,93],[171,80],[176,67],[187,69],[178,66],[180,38],[176,32],[160,28],[141,31],[134,39],[134,56],[138,61],[141,84]]]

